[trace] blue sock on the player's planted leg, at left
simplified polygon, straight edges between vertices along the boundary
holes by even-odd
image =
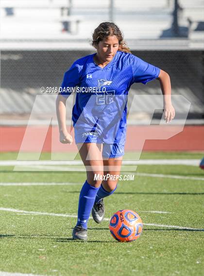
[[[77,225],[82,225],[85,229],[87,228],[87,222],[99,188],[100,187],[95,188],[91,186],[87,180],[85,180],[80,192]]]

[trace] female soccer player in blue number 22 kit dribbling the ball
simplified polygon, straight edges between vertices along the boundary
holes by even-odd
[[[93,33],[92,46],[97,53],[73,63],[64,75],[61,93],[56,99],[60,142],[71,144],[73,139],[66,128],[66,100],[77,86],[72,120],[87,179],[79,195],[78,220],[72,236],[83,241],[87,240],[90,213],[96,223],[101,223],[103,198],[112,195],[117,188],[114,176],[119,176],[124,155],[130,86],[134,82],[146,84],[159,80],[166,122],[175,116],[169,75],[131,54],[116,24],[101,23]],[[112,179],[102,179],[107,174],[112,175]]]

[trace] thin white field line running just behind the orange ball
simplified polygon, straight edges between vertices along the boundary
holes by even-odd
[[[50,216],[60,216],[60,217],[77,217],[77,215],[71,215],[71,214],[56,214],[56,213],[47,213],[47,212],[36,212],[36,211],[23,211],[23,210],[17,210],[17,209],[11,209],[11,208],[0,208],[0,211],[10,211],[10,212],[17,212],[17,213],[31,213],[31,214],[39,214],[39,215],[50,215]],[[92,217],[90,217],[92,219]],[[109,221],[110,218],[104,218],[105,221]],[[183,226],[177,226],[177,225],[163,225],[163,224],[153,224],[153,223],[143,223],[147,226],[155,226],[155,227],[165,227],[165,228],[175,228],[175,229],[183,229],[183,230],[200,230],[204,231],[203,228],[191,228],[191,227],[183,227]]]

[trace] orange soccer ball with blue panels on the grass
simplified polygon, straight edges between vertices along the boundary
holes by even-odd
[[[118,242],[132,242],[139,238],[142,232],[142,220],[132,210],[117,211],[110,219],[109,230]]]

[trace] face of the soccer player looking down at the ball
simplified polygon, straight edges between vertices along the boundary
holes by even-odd
[[[119,41],[115,35],[107,36],[96,47],[97,55],[102,62],[110,62],[119,49]]]

